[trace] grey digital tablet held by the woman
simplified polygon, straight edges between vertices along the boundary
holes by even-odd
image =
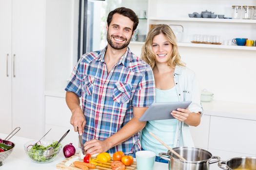
[[[139,121],[175,119],[171,112],[177,108],[188,108],[191,101],[186,102],[156,102],[152,103]]]

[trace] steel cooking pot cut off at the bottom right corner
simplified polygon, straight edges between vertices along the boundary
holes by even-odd
[[[235,157],[219,161],[218,167],[223,170],[256,170],[256,157]]]

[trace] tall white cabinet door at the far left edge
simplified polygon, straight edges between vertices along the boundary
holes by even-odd
[[[0,0],[0,133],[8,134],[11,132],[12,129],[11,5],[11,0]]]

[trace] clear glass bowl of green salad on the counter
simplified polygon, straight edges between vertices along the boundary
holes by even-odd
[[[28,157],[36,163],[48,163],[52,162],[56,156],[59,154],[59,151],[62,148],[62,145],[59,143],[59,146],[54,149],[54,152],[50,154],[46,154],[46,149],[50,147],[53,142],[57,141],[49,141],[49,140],[40,140],[40,142],[37,143],[33,147],[33,145],[38,142],[36,140],[29,141],[24,144],[24,151],[28,155]],[[33,148],[32,148],[33,147]]]

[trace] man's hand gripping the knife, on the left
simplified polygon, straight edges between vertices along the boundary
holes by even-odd
[[[70,124],[74,126],[75,132],[77,132],[79,129],[79,135],[82,135],[85,123],[86,121],[81,108],[79,107],[72,110],[72,117],[70,119]]]

